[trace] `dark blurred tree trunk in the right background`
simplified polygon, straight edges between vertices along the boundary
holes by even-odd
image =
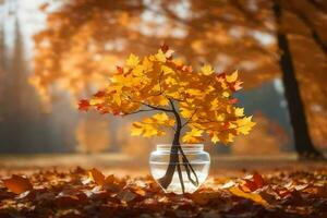
[[[280,28],[282,11],[278,0],[274,1],[272,10],[277,22],[278,48],[281,51],[279,63],[282,71],[284,93],[294,133],[295,150],[301,159],[323,158],[323,155],[314,147],[310,136],[305,111],[289,49],[289,41],[286,33]]]

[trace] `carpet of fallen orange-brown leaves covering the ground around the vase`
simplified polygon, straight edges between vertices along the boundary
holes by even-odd
[[[213,178],[193,194],[166,194],[150,177],[97,169],[0,180],[0,217],[327,217],[327,170]]]

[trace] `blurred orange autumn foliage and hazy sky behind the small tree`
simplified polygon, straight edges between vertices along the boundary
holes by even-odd
[[[154,144],[169,135],[132,137],[133,119],[81,113],[76,102],[101,88],[131,52],[155,53],[166,41],[193,66],[241,72],[244,92],[237,97],[257,125],[232,146],[207,146],[213,157],[292,156],[279,31],[289,41],[311,141],[327,148],[324,1],[280,1],[281,15],[268,0],[0,3],[2,154],[109,154],[146,168]]]

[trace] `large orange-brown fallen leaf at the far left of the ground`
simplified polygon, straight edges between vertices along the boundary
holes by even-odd
[[[25,177],[13,174],[10,179],[2,180],[4,186],[15,194],[33,190],[33,185]]]

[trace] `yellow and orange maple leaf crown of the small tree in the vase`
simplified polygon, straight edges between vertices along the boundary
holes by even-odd
[[[94,108],[114,116],[156,112],[132,124],[132,135],[145,137],[184,126],[189,128],[182,137],[185,143],[202,142],[207,134],[213,143],[228,144],[247,134],[254,122],[232,96],[241,89],[238,72],[218,74],[207,64],[197,72],[172,55],[166,45],[142,60],[130,55],[125,66],[117,66],[109,76],[105,89],[80,101],[80,110]],[[177,126],[174,112],[184,121],[182,126]]]

